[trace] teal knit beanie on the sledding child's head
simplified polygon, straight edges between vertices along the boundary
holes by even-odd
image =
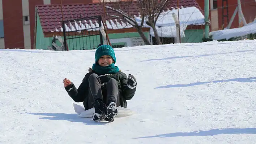
[[[103,55],[109,55],[114,60],[114,64],[116,63],[116,56],[114,49],[110,45],[101,45],[96,49],[95,52],[95,63],[98,63],[99,58]]]

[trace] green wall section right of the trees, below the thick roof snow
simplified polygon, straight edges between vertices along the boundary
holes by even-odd
[[[182,43],[202,43],[204,38],[204,30],[185,30],[185,37],[182,38]]]

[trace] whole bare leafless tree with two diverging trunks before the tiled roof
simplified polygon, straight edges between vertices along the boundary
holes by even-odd
[[[147,45],[150,45],[149,40],[146,38],[142,31],[142,27],[146,23],[152,27],[154,31],[154,37],[157,41],[157,44],[162,44],[155,24],[158,17],[160,16],[162,10],[164,9],[167,1],[170,0],[110,0],[112,3],[108,3],[106,8],[112,11],[115,11],[119,15],[112,15],[116,18],[125,19],[130,25],[135,27],[140,34],[141,38]],[[134,16],[134,10],[137,9],[140,11],[141,21],[137,22],[136,17]],[[108,14],[110,15],[110,14]]]

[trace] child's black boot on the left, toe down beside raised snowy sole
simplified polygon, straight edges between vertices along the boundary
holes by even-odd
[[[97,121],[98,119],[103,120],[106,117],[106,105],[103,103],[103,100],[95,100],[94,109],[93,121]]]

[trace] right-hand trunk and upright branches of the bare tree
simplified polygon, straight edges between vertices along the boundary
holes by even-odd
[[[157,44],[162,44],[162,43],[159,39],[155,24],[164,6],[166,5],[167,1],[168,0],[138,0],[143,10],[143,13],[147,17],[146,24],[151,26],[154,31]]]

